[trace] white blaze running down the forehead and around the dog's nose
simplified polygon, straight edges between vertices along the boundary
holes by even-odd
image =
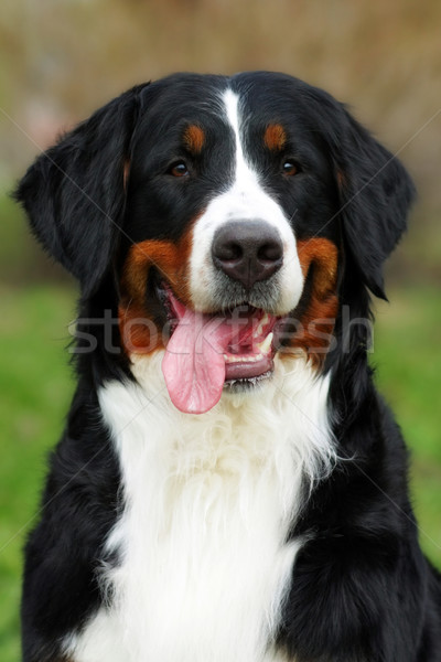
[[[212,260],[212,244],[216,231],[229,222],[261,221],[277,228],[283,244],[283,265],[275,276],[280,289],[276,312],[287,314],[297,306],[303,289],[295,237],[289,218],[280,204],[262,188],[261,175],[259,177],[246,153],[246,120],[240,117],[239,96],[227,89],[222,100],[225,108],[223,119],[230,126],[235,141],[232,163],[234,177],[229,189],[212,199],[194,226],[190,271],[192,301],[196,310],[211,310],[217,276]]]

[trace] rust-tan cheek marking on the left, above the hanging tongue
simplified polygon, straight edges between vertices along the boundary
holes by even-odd
[[[189,261],[193,232],[178,244],[165,239],[147,239],[135,244],[126,258],[121,278],[119,330],[127,353],[150,354],[164,346],[162,330],[157,329],[147,309],[149,270],[155,267],[185,305],[190,303]]]

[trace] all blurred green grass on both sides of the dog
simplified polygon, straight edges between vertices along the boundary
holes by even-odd
[[[0,660],[17,662],[21,549],[35,521],[45,458],[63,428],[73,391],[67,365],[72,290],[55,286],[0,290]],[[412,449],[412,493],[427,554],[441,567],[439,292],[390,292],[378,308],[372,361]]]

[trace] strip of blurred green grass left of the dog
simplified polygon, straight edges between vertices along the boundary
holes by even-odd
[[[73,388],[65,346],[74,296],[54,287],[0,296],[0,660],[17,662],[21,549]]]

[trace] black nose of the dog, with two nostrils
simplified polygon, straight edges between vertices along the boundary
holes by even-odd
[[[233,221],[214,235],[215,266],[246,289],[282,266],[283,245],[276,227],[263,221]]]

